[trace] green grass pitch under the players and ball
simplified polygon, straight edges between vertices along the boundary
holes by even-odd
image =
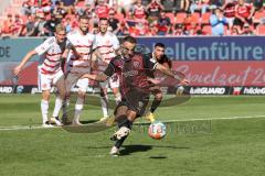
[[[137,124],[119,157],[108,155],[115,128],[98,133],[14,130],[41,124],[40,98],[0,95],[1,176],[265,175],[265,97],[192,97],[159,108],[159,120],[176,121],[167,124],[167,136],[152,140],[148,125]],[[86,106],[82,120],[100,116],[99,107]]]

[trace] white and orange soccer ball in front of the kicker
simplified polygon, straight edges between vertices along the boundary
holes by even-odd
[[[155,140],[161,140],[167,133],[166,125],[160,121],[155,121],[149,125],[148,134]]]

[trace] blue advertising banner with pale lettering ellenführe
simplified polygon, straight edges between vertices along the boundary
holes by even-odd
[[[265,36],[138,37],[148,53],[160,42],[173,61],[265,61]]]

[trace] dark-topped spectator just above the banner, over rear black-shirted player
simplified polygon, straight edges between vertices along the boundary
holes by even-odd
[[[166,12],[162,11],[158,20],[158,35],[168,35],[170,29],[171,29],[170,19],[166,16]]]

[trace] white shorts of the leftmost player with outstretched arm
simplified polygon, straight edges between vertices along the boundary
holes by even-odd
[[[51,88],[56,85],[57,80],[64,76],[62,70],[53,75],[44,75],[39,72],[39,89],[40,90],[51,90]]]

